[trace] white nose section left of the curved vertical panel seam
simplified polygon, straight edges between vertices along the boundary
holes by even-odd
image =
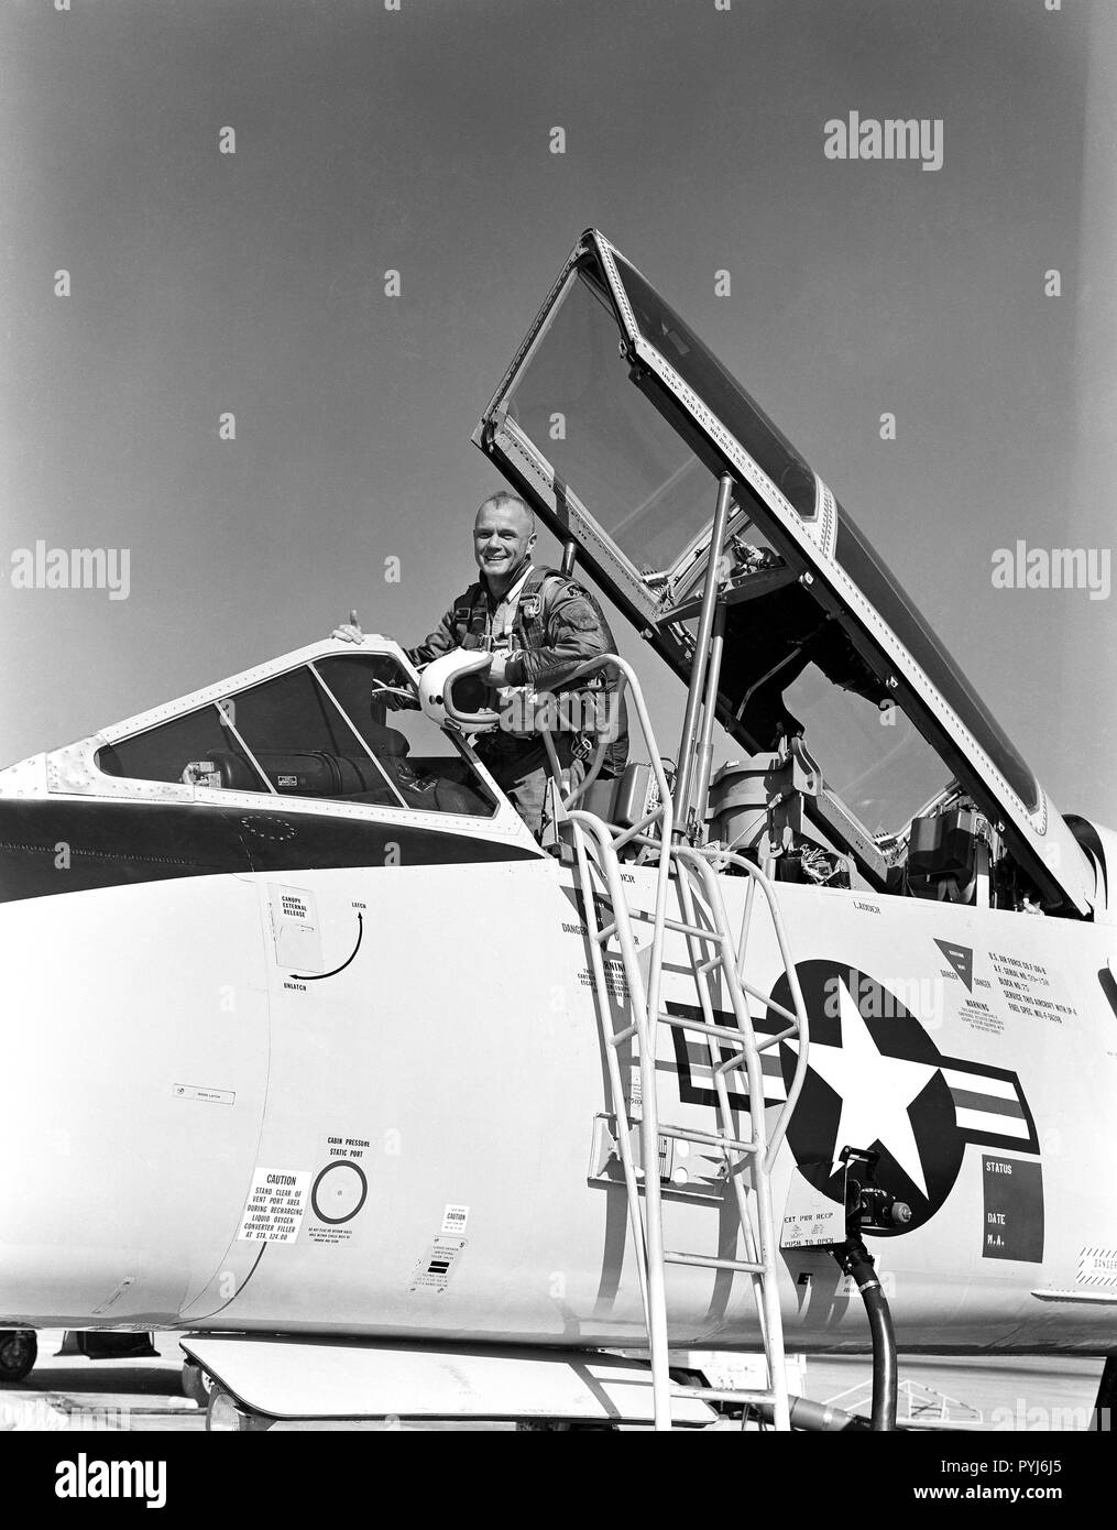
[[[0,949],[18,953],[3,985],[0,1322],[170,1322],[223,1267],[251,1183],[268,1077],[257,887],[118,877],[9,897]]]

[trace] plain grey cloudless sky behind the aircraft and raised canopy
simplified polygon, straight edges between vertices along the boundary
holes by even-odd
[[[1117,519],[1117,11],[1053,3],[6,0],[0,763],[353,606],[430,630],[500,482],[470,433],[595,225],[1117,825],[1115,597],[992,578]],[[826,158],[852,110],[941,121],[941,168]],[[14,588],[38,540],[127,549],[127,598]]]

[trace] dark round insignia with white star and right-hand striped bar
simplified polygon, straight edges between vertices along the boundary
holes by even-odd
[[[884,984],[835,961],[796,967],[811,1034],[803,1088],[788,1125],[800,1169],[842,1201],[843,1148],[880,1154],[877,1181],[912,1209],[910,1232],[940,1210],[955,1186],[967,1143],[1037,1152],[1016,1074],[946,1057],[924,1025]],[[770,1002],[793,1008],[786,973]],[[770,1008],[765,1028],[785,1025]],[[783,1088],[797,1043],[780,1042]]]

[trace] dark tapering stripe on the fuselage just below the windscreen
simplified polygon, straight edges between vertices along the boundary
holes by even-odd
[[[520,845],[405,823],[202,803],[0,802],[0,903],[222,872],[534,860]]]

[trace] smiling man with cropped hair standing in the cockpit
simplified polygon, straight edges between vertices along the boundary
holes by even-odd
[[[536,536],[536,517],[519,496],[502,490],[487,499],[473,526],[473,555],[480,578],[454,600],[438,627],[407,652],[416,666],[456,647],[491,653],[488,670],[480,676],[482,695],[470,698],[462,687],[458,705],[464,711],[480,707],[500,711],[500,728],[480,734],[474,748],[540,838],[549,762],[539,733],[513,731],[517,721],[525,721],[523,713],[516,718],[511,705],[514,692],[517,687],[531,687],[540,695],[562,692],[571,670],[598,653],[615,653],[617,647],[594,597],[555,569],[531,562]],[[337,627],[334,636],[360,643],[363,633],[355,615]],[[629,748],[623,702],[615,715],[611,707],[614,688],[615,678],[611,681],[606,673],[597,696],[604,716],[615,716],[615,736],[606,750],[603,776],[620,774]],[[555,728],[552,739],[568,786],[577,786],[585,779],[592,742],[571,728]]]

